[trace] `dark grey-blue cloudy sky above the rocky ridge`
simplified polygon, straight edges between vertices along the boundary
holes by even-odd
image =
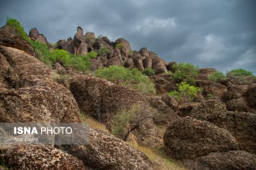
[[[256,74],[255,0],[1,0],[0,25],[18,19],[49,42],[85,32],[123,37],[167,62]]]

